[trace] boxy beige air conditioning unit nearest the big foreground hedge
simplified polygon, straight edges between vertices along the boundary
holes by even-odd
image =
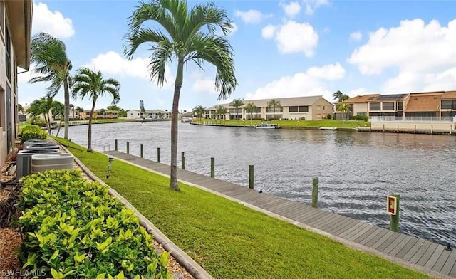
[[[31,157],[31,173],[48,169],[73,169],[74,157],[71,154],[35,154]]]

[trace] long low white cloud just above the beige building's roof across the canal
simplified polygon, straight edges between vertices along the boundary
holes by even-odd
[[[344,73],[345,70],[338,63],[323,65],[320,68],[312,67],[306,70],[306,73],[296,73],[274,80],[258,88],[254,93],[247,93],[245,98],[255,100],[323,95],[323,98],[331,102],[333,93],[326,88],[322,80],[342,78]],[[325,74],[331,78],[323,77]]]

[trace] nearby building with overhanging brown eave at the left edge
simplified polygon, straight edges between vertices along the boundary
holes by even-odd
[[[30,68],[32,9],[32,0],[0,1],[0,164],[18,135],[17,75]]]

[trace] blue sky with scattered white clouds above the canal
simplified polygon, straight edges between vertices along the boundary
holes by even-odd
[[[197,1],[189,1],[196,4]],[[332,94],[456,90],[456,15],[453,1],[216,1],[234,22],[229,35],[239,87],[228,100]],[[147,46],[123,56],[128,16],[138,1],[35,1],[33,34],[44,31],[66,43],[73,70],[101,70],[121,83],[119,106],[170,110],[175,65],[167,85],[150,81]],[[33,68],[33,65],[32,65]],[[19,72],[23,71],[21,69]],[[188,65],[180,110],[219,103],[214,67]],[[19,103],[44,95],[46,84],[19,75]],[[63,102],[63,91],[56,100]],[[98,100],[96,108],[110,105]],[[90,102],[74,101],[90,109]]]

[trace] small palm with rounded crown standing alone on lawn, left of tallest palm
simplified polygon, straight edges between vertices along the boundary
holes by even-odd
[[[92,110],[88,118],[88,146],[87,152],[92,152],[92,117],[95,110],[95,104],[98,98],[106,94],[113,96],[112,104],[115,105],[120,101],[119,95],[120,83],[113,78],[103,79],[102,73],[93,71],[88,68],[78,68],[74,76],[73,98],[88,98],[92,100]]]

